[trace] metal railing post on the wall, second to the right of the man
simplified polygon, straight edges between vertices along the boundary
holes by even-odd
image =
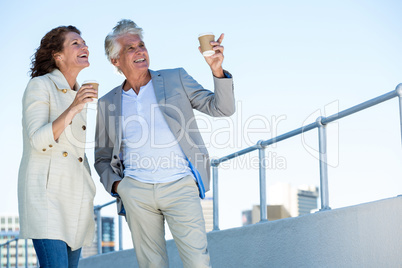
[[[260,222],[268,221],[267,216],[267,179],[266,179],[266,164],[265,164],[265,147],[262,146],[263,141],[259,141],[258,145],[258,160],[260,171]]]

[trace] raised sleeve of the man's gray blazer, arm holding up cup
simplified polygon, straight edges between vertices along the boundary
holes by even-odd
[[[194,109],[215,117],[231,116],[235,112],[233,78],[214,77],[214,92],[204,89],[183,68],[180,79]]]

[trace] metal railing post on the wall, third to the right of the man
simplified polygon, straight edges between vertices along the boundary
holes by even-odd
[[[327,128],[322,124],[323,117],[317,118],[318,126],[318,140],[320,151],[320,194],[321,194],[321,209],[329,210],[329,197],[328,197],[328,161],[327,161]]]

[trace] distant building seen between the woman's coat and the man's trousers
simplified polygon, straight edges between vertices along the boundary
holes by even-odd
[[[114,241],[114,217],[102,217],[102,253],[115,251],[115,241]],[[95,237],[91,246],[82,248],[82,257],[87,258],[89,256],[98,254],[98,242],[97,242],[97,221],[95,217]]]

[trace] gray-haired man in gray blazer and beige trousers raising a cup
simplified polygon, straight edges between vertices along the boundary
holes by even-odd
[[[126,80],[99,100],[95,168],[126,215],[140,267],[168,267],[164,219],[184,267],[210,267],[199,198],[209,190],[210,166],[193,109],[211,116],[235,111],[222,40],[211,42],[215,54],[205,58],[213,93],[182,68],[150,70],[134,22],[121,20],[105,39],[108,59]]]

